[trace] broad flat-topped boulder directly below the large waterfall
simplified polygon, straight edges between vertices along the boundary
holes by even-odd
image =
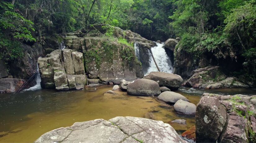
[[[154,80],[159,84],[159,86],[165,86],[171,90],[177,90],[183,82],[181,76],[167,72],[153,71],[143,78]]]

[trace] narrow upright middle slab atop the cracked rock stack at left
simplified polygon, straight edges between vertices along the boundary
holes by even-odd
[[[70,50],[70,49],[62,50],[64,65],[65,65],[65,71],[68,75],[74,75],[75,74],[71,52],[72,52],[72,50]]]

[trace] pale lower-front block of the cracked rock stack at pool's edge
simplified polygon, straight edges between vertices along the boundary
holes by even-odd
[[[54,83],[57,90],[69,90],[67,76],[63,71],[54,74]]]

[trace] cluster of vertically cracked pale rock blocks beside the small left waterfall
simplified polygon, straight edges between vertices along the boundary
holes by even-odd
[[[83,89],[86,84],[83,53],[55,50],[45,58],[38,58],[38,65],[43,88]]]

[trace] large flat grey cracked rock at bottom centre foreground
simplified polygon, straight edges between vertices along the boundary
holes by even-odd
[[[83,142],[83,143],[185,143],[169,124],[138,117],[115,117],[106,121],[96,119],[76,122],[43,134],[36,143]]]

